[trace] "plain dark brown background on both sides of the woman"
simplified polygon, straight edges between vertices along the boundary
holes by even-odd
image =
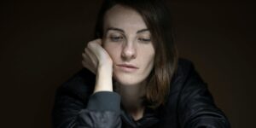
[[[50,127],[55,89],[82,67],[101,0],[1,2],[1,127]],[[193,61],[233,128],[255,124],[255,5],[171,1],[180,56]]]

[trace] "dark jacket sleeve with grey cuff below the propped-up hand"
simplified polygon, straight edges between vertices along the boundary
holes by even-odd
[[[75,80],[77,81],[77,80]],[[81,84],[81,82],[79,83]],[[52,111],[55,128],[120,128],[120,96],[115,92],[101,91],[93,95],[79,94],[77,82],[69,82],[56,91]],[[82,86],[83,85],[83,86]],[[85,84],[81,84],[84,88]],[[73,91],[78,90],[78,91]]]

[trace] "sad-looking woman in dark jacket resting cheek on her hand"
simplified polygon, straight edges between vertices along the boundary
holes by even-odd
[[[191,62],[177,59],[159,0],[106,0],[85,67],[56,93],[55,127],[230,127]]]

